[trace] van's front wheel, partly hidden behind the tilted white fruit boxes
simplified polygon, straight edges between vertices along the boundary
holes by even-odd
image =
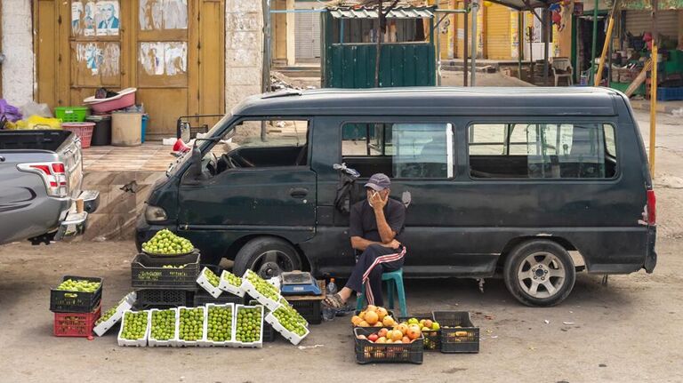
[[[261,278],[272,278],[283,271],[301,269],[301,259],[291,244],[272,237],[260,237],[246,243],[237,251],[233,270],[243,275],[247,268]]]

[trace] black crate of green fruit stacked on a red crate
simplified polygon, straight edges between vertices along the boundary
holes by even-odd
[[[100,287],[94,292],[51,289],[50,311],[54,313],[54,336],[90,337],[101,315],[102,278],[65,275],[62,282],[68,279],[99,282]]]

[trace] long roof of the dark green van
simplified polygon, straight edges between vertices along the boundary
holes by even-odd
[[[615,116],[619,92],[598,87],[285,90],[242,101],[235,116]]]

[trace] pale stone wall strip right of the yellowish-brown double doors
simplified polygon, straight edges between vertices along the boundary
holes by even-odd
[[[225,2],[225,109],[261,93],[263,10],[260,0]]]

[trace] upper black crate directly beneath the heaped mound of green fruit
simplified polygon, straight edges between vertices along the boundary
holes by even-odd
[[[131,284],[136,289],[195,289],[199,270],[197,252],[163,258],[141,253],[131,262]]]

